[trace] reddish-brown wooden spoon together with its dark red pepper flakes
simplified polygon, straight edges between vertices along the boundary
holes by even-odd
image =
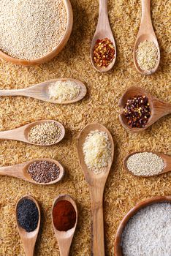
[[[130,87],[119,100],[122,126],[132,132],[142,132],[162,116],[171,113],[171,104],[153,97],[140,87]]]

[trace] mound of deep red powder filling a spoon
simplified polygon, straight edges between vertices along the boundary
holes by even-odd
[[[67,200],[60,200],[53,207],[53,224],[58,231],[67,231],[75,226],[76,211]]]

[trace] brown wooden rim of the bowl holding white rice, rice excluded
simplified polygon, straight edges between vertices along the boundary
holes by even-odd
[[[123,217],[120,225],[118,226],[118,230],[115,235],[115,244],[114,244],[114,255],[115,256],[123,256],[122,246],[121,246],[121,238],[124,228],[126,227],[127,222],[131,219],[135,214],[137,214],[140,209],[145,208],[146,206],[150,206],[153,203],[171,203],[171,196],[159,196],[152,197],[140,203],[137,203],[125,217]]]

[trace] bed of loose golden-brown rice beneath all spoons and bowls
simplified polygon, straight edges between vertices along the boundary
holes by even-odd
[[[52,105],[24,97],[0,98],[0,129],[13,129],[31,121],[51,118],[66,127],[66,138],[56,146],[31,146],[17,141],[0,142],[0,165],[15,165],[36,157],[57,159],[66,176],[49,187],[28,184],[17,178],[0,177],[0,255],[24,255],[15,224],[15,203],[33,195],[42,208],[42,227],[35,255],[59,255],[53,235],[50,211],[53,200],[63,193],[77,201],[79,220],[71,255],[91,254],[90,197],[77,157],[77,135],[86,124],[100,122],[112,133],[115,157],[104,191],[106,255],[113,255],[113,241],[119,222],[135,203],[155,195],[171,194],[171,173],[156,178],[136,178],[123,169],[123,157],[131,151],[151,150],[170,154],[171,117],[161,118],[145,132],[126,132],[118,120],[118,99],[130,86],[141,86],[170,102],[170,1],[152,1],[153,26],[161,48],[156,74],[141,76],[134,68],[132,50],[139,26],[141,5],[137,0],[110,0],[110,24],[117,45],[114,69],[100,74],[91,67],[91,39],[96,29],[99,2],[72,0],[74,26],[64,50],[39,67],[18,67],[0,62],[0,88],[21,89],[53,78],[77,78],[86,83],[88,94],[73,105]],[[100,246],[100,245],[99,245]]]

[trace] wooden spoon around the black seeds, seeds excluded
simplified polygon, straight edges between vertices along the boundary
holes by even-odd
[[[18,217],[17,217],[17,206],[20,200],[23,200],[23,198],[30,199],[34,201],[34,203],[37,205],[37,209],[39,211],[39,222],[37,224],[37,228],[32,232],[26,232],[26,230],[23,229],[23,227],[20,227],[20,224],[18,223]],[[20,235],[21,241],[23,242],[24,251],[26,253],[26,256],[33,256],[34,255],[34,247],[37,241],[37,235],[39,233],[39,225],[40,225],[40,209],[37,201],[34,199],[34,197],[31,197],[30,195],[26,195],[18,200],[18,203],[15,206],[15,218],[17,222],[18,227],[18,233]]]

